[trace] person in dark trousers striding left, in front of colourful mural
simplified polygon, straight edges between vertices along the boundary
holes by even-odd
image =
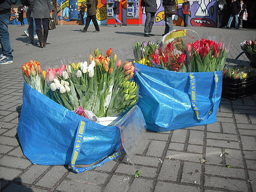
[[[94,24],[94,27],[95,27],[94,32],[99,32],[98,23],[97,23],[97,20],[96,20],[96,8],[97,8],[97,5],[98,5],[98,1],[97,0],[87,0],[86,5],[87,5],[86,24],[85,24],[84,29],[80,29],[80,31],[87,32],[87,29],[90,25],[90,22],[93,20],[93,24]]]

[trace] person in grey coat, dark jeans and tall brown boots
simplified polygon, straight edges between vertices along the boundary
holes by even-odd
[[[38,36],[40,43],[40,48],[46,47],[46,41],[49,32],[49,18],[51,17],[51,1],[50,0],[30,0],[30,5],[32,8],[31,17],[35,21],[35,32]],[[42,26],[43,24],[43,32]]]

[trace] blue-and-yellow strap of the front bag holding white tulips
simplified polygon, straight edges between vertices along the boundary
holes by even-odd
[[[122,148],[120,151],[113,153],[111,156],[105,158],[100,163],[97,163],[93,166],[90,166],[90,167],[76,167],[75,162],[76,162],[76,160],[77,160],[77,158],[80,154],[80,151],[81,151],[81,146],[82,146],[82,142],[83,142],[83,138],[84,138],[85,128],[86,128],[86,122],[80,121],[79,122],[79,127],[77,128],[77,131],[76,131],[74,148],[73,148],[73,152],[72,152],[72,156],[71,156],[71,167],[76,173],[82,173],[84,171],[89,171],[93,168],[100,167],[105,162],[108,162],[110,160],[114,160],[114,159],[120,157],[125,152],[125,149]],[[122,147],[122,145],[121,145],[121,147]]]

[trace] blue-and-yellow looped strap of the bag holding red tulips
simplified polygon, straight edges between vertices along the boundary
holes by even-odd
[[[195,82],[195,76],[193,75],[193,73],[190,73],[190,100],[192,103],[192,108],[195,112],[196,118],[198,120],[202,120],[205,121],[208,119],[208,117],[213,113],[213,109],[214,109],[214,105],[216,103],[216,95],[217,95],[217,88],[218,88],[218,75],[216,73],[216,71],[214,72],[214,82],[215,82],[215,92],[214,92],[214,102],[212,104],[212,106],[210,107],[210,109],[208,110],[208,112],[206,113],[206,115],[204,115],[203,117],[199,116],[199,109],[196,105],[196,82]]]

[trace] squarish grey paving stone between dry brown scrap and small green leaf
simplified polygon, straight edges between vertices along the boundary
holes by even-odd
[[[223,158],[220,157],[220,154],[222,154],[221,148],[206,147],[206,155],[205,155],[205,160],[207,160],[206,163],[223,165],[224,161],[223,161]]]

